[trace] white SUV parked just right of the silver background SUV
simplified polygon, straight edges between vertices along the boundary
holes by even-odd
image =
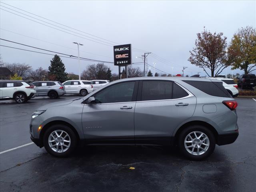
[[[84,80],[68,80],[63,83],[66,94],[80,94],[82,96],[91,93],[94,89],[92,85],[84,84]],[[87,81],[84,81],[87,82]]]

